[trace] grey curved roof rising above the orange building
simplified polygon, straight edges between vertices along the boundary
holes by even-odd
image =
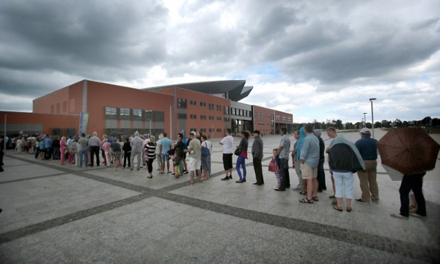
[[[253,86],[245,86],[245,80],[228,80],[213,82],[190,82],[186,84],[172,84],[166,86],[156,86],[144,88],[142,90],[160,91],[162,89],[179,87],[190,91],[207,94],[224,94],[232,101],[240,101],[247,97],[252,91]]]

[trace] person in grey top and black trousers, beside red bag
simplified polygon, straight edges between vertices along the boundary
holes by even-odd
[[[281,185],[278,188],[274,188],[275,191],[285,191],[290,187],[289,178],[289,152],[290,152],[290,139],[287,135],[287,128],[281,128],[281,141],[278,147],[276,155],[280,157],[280,176]]]

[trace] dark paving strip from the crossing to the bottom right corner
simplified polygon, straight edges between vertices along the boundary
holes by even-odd
[[[233,217],[239,217],[241,219],[256,221],[262,224],[287,228],[289,230],[304,232],[311,235],[325,237],[327,239],[372,248],[374,250],[390,252],[392,254],[401,254],[408,258],[426,261],[428,263],[435,263],[438,261],[437,257],[439,250],[426,245],[399,241],[397,239],[382,237],[380,235],[373,235],[357,230],[349,230],[336,226],[318,224],[302,219],[271,215],[245,208],[217,204],[214,202],[199,200],[197,198],[177,195],[174,193],[157,193],[155,196],[164,200],[194,206],[215,213],[221,213],[223,215],[230,215]]]

